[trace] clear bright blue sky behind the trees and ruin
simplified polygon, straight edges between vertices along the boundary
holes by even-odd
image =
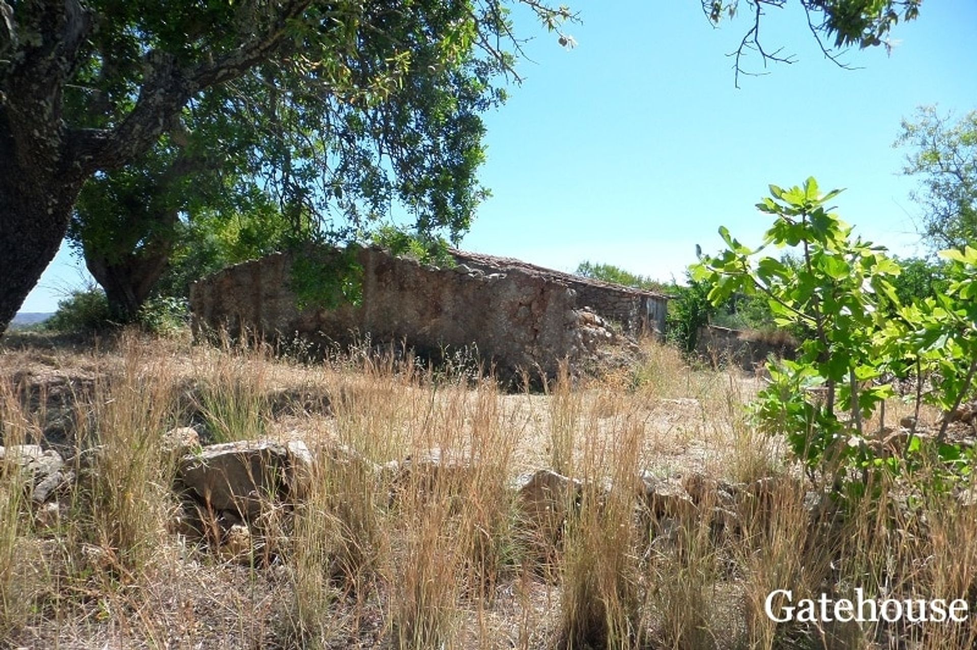
[[[825,60],[796,8],[770,10],[765,44],[797,62],[741,77],[732,52],[746,18],[712,29],[696,0],[571,2],[583,24],[564,50],[515,16],[532,61],[510,100],[486,116],[492,190],[462,247],[560,270],[583,260],[681,279],[696,244],[718,250],[727,225],[744,243],[768,222],[753,205],[769,183],[815,176],[846,187],[837,211],[900,255],[924,252],[894,149],[920,104],[959,116],[977,109],[977,1],[927,0],[900,24],[891,55],[852,50]],[[745,4],[743,2],[743,4]],[[746,66],[762,70],[755,57]],[[24,311],[51,311],[80,273],[66,250]]]

